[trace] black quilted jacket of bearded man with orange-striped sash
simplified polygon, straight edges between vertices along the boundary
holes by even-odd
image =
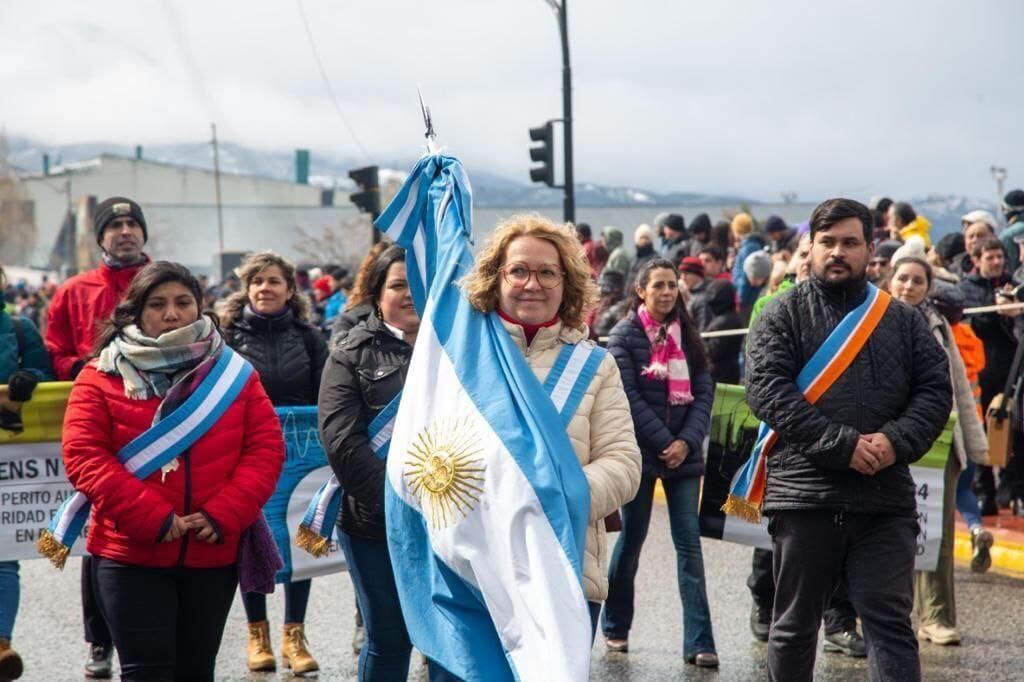
[[[865,283],[827,288],[812,276],[772,299],[746,344],[746,401],[778,434],[768,456],[764,510],[835,509],[913,514],[909,464],[942,432],[952,409],[946,353],[924,315],[893,300],[846,372],[812,407],[796,378]],[[882,432],[896,463],[873,476],[850,468],[860,434]]]

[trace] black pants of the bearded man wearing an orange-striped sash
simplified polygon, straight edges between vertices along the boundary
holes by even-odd
[[[864,629],[871,680],[921,680],[910,625],[918,521],[913,516],[783,511],[771,515],[775,608],[768,639],[772,680],[811,680],[818,628],[843,579]]]

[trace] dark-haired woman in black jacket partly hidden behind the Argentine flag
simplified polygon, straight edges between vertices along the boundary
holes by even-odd
[[[331,345],[319,391],[319,428],[343,489],[338,538],[366,624],[358,676],[403,680],[413,645],[385,536],[385,463],[371,447],[369,432],[374,418],[401,392],[420,317],[403,249],[385,249],[364,282],[374,313]]]

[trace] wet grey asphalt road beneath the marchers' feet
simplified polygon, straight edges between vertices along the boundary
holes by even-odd
[[[702,671],[683,663],[682,610],[676,590],[675,556],[666,508],[656,505],[637,588],[637,615],[630,652],[609,653],[600,634],[594,646],[592,680],[763,680],[765,645],[755,642],[748,620],[751,608],[745,578],[749,548],[705,541],[705,562],[712,620],[721,668]],[[14,631],[15,648],[26,662],[26,680],[80,680],[86,647],[79,606],[79,561],[62,573],[45,561],[22,563],[22,608]],[[956,597],[963,644],[922,644],[926,680],[1024,679],[1024,580],[974,576],[957,570]],[[310,650],[321,663],[322,680],[354,680],[351,651],[352,587],[347,574],[313,581],[307,615]],[[280,651],[283,597],[269,599],[272,640]],[[236,599],[217,660],[218,680],[294,679],[291,675],[250,674],[245,665],[246,627]],[[815,678],[866,680],[863,659],[819,652]],[[426,680],[414,654],[412,680]]]

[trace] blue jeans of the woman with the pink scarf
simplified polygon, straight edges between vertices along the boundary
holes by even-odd
[[[609,639],[626,639],[633,625],[634,581],[650,525],[655,480],[653,476],[643,476],[636,498],[623,507],[623,532],[611,554],[602,623],[604,636]],[[698,653],[715,653],[697,519],[700,479],[668,478],[662,480],[662,485],[669,503],[669,523],[676,546],[676,578],[683,602],[683,657],[690,660]]]

